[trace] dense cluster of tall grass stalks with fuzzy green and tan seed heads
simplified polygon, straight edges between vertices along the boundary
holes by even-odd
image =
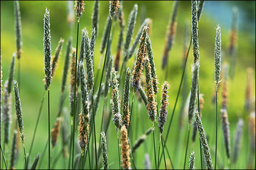
[[[25,132],[26,125],[23,122],[24,114],[32,114],[22,112],[22,100],[20,97],[20,60],[22,56],[22,22],[20,17],[19,2],[14,1],[14,14],[15,14],[15,37],[16,37],[16,52],[12,56],[12,60],[9,66],[9,75],[4,86],[2,85],[2,64],[1,64],[1,130],[3,129],[3,135],[1,133],[1,169],[40,169],[40,168],[61,168],[56,165],[59,157],[63,157],[63,167],[66,169],[109,169],[113,164],[119,169],[137,169],[139,161],[142,158],[138,157],[137,153],[140,152],[139,148],[142,145],[145,147],[144,168],[145,169],[175,169],[181,167],[183,164],[177,164],[173,162],[173,152],[178,146],[174,145],[172,148],[167,147],[167,143],[170,140],[176,140],[177,145],[180,139],[175,138],[171,127],[173,123],[173,117],[177,112],[176,106],[180,93],[182,94],[182,111],[179,119],[179,129],[175,131],[182,132],[183,121],[187,116],[187,138],[183,139],[186,145],[184,154],[184,166],[183,168],[195,169],[207,168],[207,169],[221,169],[221,168],[236,168],[236,164],[240,158],[241,141],[246,140],[249,143],[250,152],[249,163],[244,164],[244,168],[255,168],[255,101],[253,101],[252,83],[253,83],[253,69],[248,69],[247,86],[246,86],[246,114],[240,117],[237,123],[236,132],[234,138],[230,137],[230,125],[228,120],[228,87],[229,77],[233,77],[233,69],[235,67],[236,48],[237,48],[237,15],[238,10],[234,9],[233,23],[230,35],[229,55],[232,56],[232,60],[224,64],[222,62],[222,44],[221,44],[221,27],[216,26],[216,38],[215,46],[212,53],[215,54],[212,57],[212,67],[215,68],[215,74],[212,75],[212,84],[216,84],[215,95],[213,102],[216,105],[216,119],[210,120],[215,124],[212,129],[216,129],[214,136],[208,133],[205,129],[205,122],[202,119],[202,109],[204,100],[203,94],[200,92],[200,60],[204,60],[203,57],[199,59],[199,32],[200,24],[199,20],[203,12],[205,1],[191,1],[191,30],[189,26],[186,26],[185,38],[184,38],[184,52],[182,63],[182,76],[179,82],[178,94],[175,101],[169,101],[170,91],[173,90],[172,84],[167,82],[167,75],[171,75],[172,72],[168,72],[168,58],[175,43],[176,29],[178,23],[178,11],[180,1],[173,3],[172,12],[170,15],[166,39],[164,44],[163,56],[162,56],[162,70],[165,71],[163,79],[159,80],[157,77],[157,68],[155,64],[156,53],[153,55],[153,41],[151,41],[151,22],[150,18],[146,18],[141,23],[138,32],[133,39],[133,34],[136,25],[136,18],[138,14],[138,5],[135,4],[134,8],[127,20],[127,26],[125,26],[123,1],[110,1],[109,13],[105,22],[105,27],[102,37],[97,37],[99,32],[98,21],[100,2],[95,1],[92,12],[92,32],[89,33],[89,29],[80,29],[79,23],[83,16],[83,12],[87,10],[84,1],[75,1],[75,4],[71,1],[68,2],[68,18],[69,26],[75,27],[77,23],[76,37],[70,37],[66,42],[65,62],[62,69],[62,80],[60,85],[60,98],[58,113],[54,119],[54,124],[50,124],[50,115],[52,114],[51,107],[53,107],[50,100],[50,85],[54,78],[55,71],[58,69],[57,63],[60,60],[62,46],[65,45],[65,40],[60,38],[55,50],[55,54],[52,55],[51,50],[51,25],[50,25],[50,10],[46,8],[44,14],[44,20],[42,22],[42,35],[44,35],[43,47],[44,47],[44,85],[45,88],[41,89],[44,92],[38,117],[35,123],[34,133],[27,134],[26,136],[33,136],[29,147],[29,153],[26,156],[25,151]],[[53,11],[54,9],[51,9]],[[76,15],[76,21],[75,21]],[[43,16],[42,16],[43,17]],[[119,25],[119,30],[116,30],[116,23]],[[74,25],[74,26],[73,26]],[[125,30],[126,27],[126,30]],[[155,26],[156,27],[156,26]],[[114,31],[119,31],[117,41],[117,52],[113,54],[111,51],[112,46],[116,45],[113,42]],[[79,32],[81,36],[79,37]],[[90,37],[91,35],[91,37]],[[191,37],[191,38],[190,38]],[[76,42],[76,47],[72,47],[72,39]],[[101,40],[101,45],[96,46],[95,42]],[[133,40],[133,42],[132,42]],[[163,40],[164,42],[164,40]],[[177,44],[178,45],[178,44]],[[78,47],[79,46],[79,47]],[[193,66],[191,71],[191,80],[189,94],[186,91],[181,91],[181,87],[188,82],[186,81],[187,60],[189,50],[193,53]],[[100,52],[101,61],[99,66],[95,66],[95,51]],[[133,65],[129,67],[128,61],[134,56],[135,61]],[[53,56],[53,57],[52,57]],[[113,57],[115,56],[115,57]],[[17,67],[17,80],[15,77],[15,61],[18,60]],[[190,58],[189,58],[190,60]],[[2,56],[1,56],[2,62]],[[230,65],[230,66],[229,66]],[[69,71],[70,70],[70,71]],[[67,81],[69,77],[69,88],[67,88]],[[159,85],[162,90],[159,90]],[[203,84],[200,84],[203,86]],[[218,90],[221,89],[221,109],[218,109]],[[13,91],[12,91],[13,89]],[[3,92],[4,91],[4,92]],[[111,91],[111,92],[110,92]],[[34,159],[32,159],[32,150],[41,151],[36,146],[36,130],[40,121],[40,114],[45,99],[45,93],[48,92],[48,125],[44,125],[44,128],[48,126],[48,136],[45,136],[47,142],[42,152],[38,153]],[[12,103],[12,94],[14,96],[14,103]],[[173,93],[172,93],[173,94]],[[255,95],[255,94],[254,94]],[[2,102],[3,96],[3,102]],[[158,96],[161,96],[161,100],[158,101]],[[65,99],[69,100],[69,109],[66,108]],[[101,98],[104,102],[101,102]],[[11,126],[12,110],[11,106],[15,106],[16,122],[14,126]],[[172,112],[168,113],[169,105],[174,106]],[[54,106],[56,107],[56,106]],[[138,113],[140,108],[146,109],[145,113]],[[111,108],[111,110],[109,110]],[[102,114],[100,113],[102,109]],[[14,112],[14,111],[13,111]],[[69,114],[68,114],[69,113]],[[35,114],[35,113],[33,113]],[[95,117],[101,114],[101,124],[95,121]],[[145,114],[147,119],[139,118],[138,114]],[[176,115],[179,113],[176,113]],[[132,117],[133,116],[133,117]],[[145,116],[144,116],[145,117]],[[168,119],[170,117],[170,119]],[[220,117],[220,119],[218,119]],[[110,123],[111,120],[113,124]],[[134,122],[135,123],[134,123]],[[150,122],[152,127],[143,129],[143,134],[138,135],[138,126],[140,124],[146,124]],[[223,143],[218,141],[218,129],[221,123]],[[137,124],[137,125],[136,125]],[[191,126],[193,124],[193,126]],[[247,126],[248,125],[248,126]],[[113,134],[110,134],[109,127],[113,126],[116,130],[117,143],[109,142],[113,138]],[[13,129],[12,129],[13,127]],[[143,126],[144,127],[144,126]],[[248,134],[244,138],[243,131],[247,128]],[[69,130],[70,129],[70,130]],[[190,130],[192,136],[190,136]],[[13,133],[11,133],[13,131]],[[100,133],[97,133],[100,131]],[[152,138],[149,137],[152,133]],[[12,136],[12,142],[10,142],[10,136]],[[159,134],[159,138],[155,136]],[[169,135],[170,134],[170,135]],[[198,134],[198,135],[197,135]],[[115,134],[114,134],[115,135]],[[24,152],[24,166],[16,165],[17,153],[19,152],[18,139],[20,136],[21,143],[23,144]],[[199,136],[199,142],[196,143],[197,136]],[[99,137],[99,138],[97,138]],[[189,143],[189,139],[192,139],[192,144]],[[3,139],[2,139],[3,138]],[[59,138],[62,143],[59,144]],[[215,148],[209,146],[209,138],[215,139]],[[157,142],[159,141],[159,143]],[[151,142],[151,148],[147,149],[146,142]],[[181,144],[184,142],[181,142]],[[33,144],[35,147],[32,149]],[[57,147],[61,145],[60,147]],[[194,145],[199,145],[200,154],[194,152]],[[3,146],[3,148],[2,148]],[[114,157],[110,153],[113,153],[113,148],[118,148],[116,156],[118,159],[114,162],[110,162],[109,158]],[[190,148],[190,149],[189,149]],[[48,164],[42,164],[45,154],[48,149]],[[153,152],[154,149],[154,152]],[[157,150],[158,149],[158,150]],[[189,151],[191,150],[191,152]],[[220,160],[220,152],[224,150],[225,158]],[[110,152],[111,151],[111,152]],[[57,156],[54,153],[58,152]],[[189,159],[187,158],[187,152],[190,153]],[[175,154],[179,154],[175,153]],[[33,161],[32,161],[33,160]],[[200,160],[201,166],[196,164],[196,160]],[[66,164],[67,162],[67,164]],[[177,162],[177,161],[176,161]],[[65,163],[65,164],[64,164]],[[164,166],[161,166],[164,163]]]

